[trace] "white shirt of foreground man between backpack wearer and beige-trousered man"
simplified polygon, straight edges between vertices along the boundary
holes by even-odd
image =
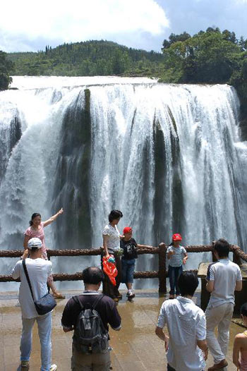
[[[167,324],[169,348],[167,363],[176,371],[202,371],[205,367],[203,352],[197,340],[206,339],[206,320],[203,310],[193,300],[178,296],[165,300],[159,313],[157,327]]]

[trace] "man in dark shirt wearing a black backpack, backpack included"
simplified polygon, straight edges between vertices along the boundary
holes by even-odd
[[[116,303],[98,292],[104,273],[100,268],[83,270],[85,291],[73,296],[61,319],[64,332],[74,331],[71,371],[108,371],[111,366],[108,324],[121,329]]]

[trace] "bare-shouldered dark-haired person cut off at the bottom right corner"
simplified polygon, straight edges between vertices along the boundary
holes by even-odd
[[[247,326],[247,303],[241,306],[240,314]],[[239,371],[247,371],[247,331],[235,336],[232,360]]]

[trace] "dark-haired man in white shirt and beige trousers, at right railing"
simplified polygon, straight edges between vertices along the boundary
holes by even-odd
[[[207,291],[211,293],[205,310],[207,320],[207,345],[215,364],[208,371],[222,370],[227,367],[227,348],[229,327],[234,312],[234,291],[241,291],[241,270],[229,260],[230,245],[222,238],[215,242],[214,253],[218,262],[207,269]],[[218,337],[215,336],[215,327]]]

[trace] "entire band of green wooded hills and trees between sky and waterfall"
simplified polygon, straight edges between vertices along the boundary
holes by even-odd
[[[164,39],[162,53],[104,40],[47,46],[37,53],[0,53],[1,89],[8,88],[10,75],[152,76],[164,83],[228,83],[239,94],[241,123],[247,128],[247,39],[237,39],[229,30],[172,33]]]

